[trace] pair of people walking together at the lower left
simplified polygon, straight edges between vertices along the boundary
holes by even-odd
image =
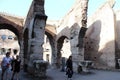
[[[16,55],[16,57],[11,58],[11,53],[7,52],[6,56],[3,57],[1,62],[1,68],[2,68],[2,74],[1,74],[1,80],[4,80],[4,76],[6,74],[6,78],[10,78],[10,74],[12,72],[11,80],[14,80],[14,77],[16,75],[16,78],[18,80],[18,75],[20,72],[20,57],[19,55]]]

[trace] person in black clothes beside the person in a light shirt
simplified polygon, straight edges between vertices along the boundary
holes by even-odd
[[[16,80],[19,80],[20,64],[21,64],[20,57],[16,55],[16,59],[14,59],[12,62],[13,74],[11,80],[14,80],[15,75],[16,75]]]

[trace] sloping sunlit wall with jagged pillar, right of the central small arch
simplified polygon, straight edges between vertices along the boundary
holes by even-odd
[[[75,71],[79,61],[84,60],[84,49],[77,47],[77,45],[80,28],[86,27],[87,3],[88,0],[76,0],[70,11],[60,20],[57,28],[57,40],[61,36],[66,36],[70,40],[70,48],[66,48],[65,52],[70,49]]]

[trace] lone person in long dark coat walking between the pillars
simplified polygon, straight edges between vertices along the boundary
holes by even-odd
[[[68,60],[66,61],[66,75],[68,75],[68,78],[72,78],[73,75],[72,56],[69,56]]]

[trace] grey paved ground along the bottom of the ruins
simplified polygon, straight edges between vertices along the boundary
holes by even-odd
[[[1,74],[1,70],[0,70]],[[65,72],[61,72],[59,69],[48,69],[47,79],[44,80],[66,80],[67,76]],[[0,76],[1,77],[1,76]],[[31,75],[21,71],[20,80],[41,80],[39,78],[34,78]],[[91,70],[89,74],[73,74],[72,80],[120,80],[119,71],[104,71],[104,70]]]

